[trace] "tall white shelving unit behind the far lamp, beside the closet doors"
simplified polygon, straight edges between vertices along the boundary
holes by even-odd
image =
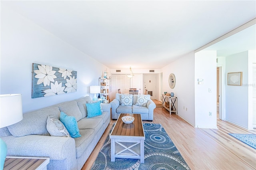
[[[108,78],[99,78],[100,95],[104,96],[108,102],[111,99],[112,82]]]

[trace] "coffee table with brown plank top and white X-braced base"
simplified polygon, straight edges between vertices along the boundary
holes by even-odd
[[[122,117],[132,116],[134,121],[125,124]],[[121,113],[111,134],[111,162],[116,158],[140,159],[144,163],[144,128],[140,114]]]

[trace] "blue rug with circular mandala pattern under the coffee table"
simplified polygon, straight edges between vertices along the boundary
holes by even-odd
[[[144,123],[143,127],[144,164],[140,164],[140,159],[130,158],[116,158],[111,162],[109,133],[91,170],[190,170],[162,125]]]

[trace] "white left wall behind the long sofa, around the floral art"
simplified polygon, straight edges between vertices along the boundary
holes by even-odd
[[[3,4],[0,54],[0,93],[21,93],[24,113],[90,95],[90,85],[98,85],[98,78],[106,69],[98,61]],[[32,99],[32,63],[77,71],[77,91]]]

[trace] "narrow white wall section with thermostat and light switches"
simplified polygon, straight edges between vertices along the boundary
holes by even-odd
[[[216,51],[195,53],[195,125],[198,128],[217,128],[216,56]],[[198,79],[204,79],[202,85],[198,84]]]

